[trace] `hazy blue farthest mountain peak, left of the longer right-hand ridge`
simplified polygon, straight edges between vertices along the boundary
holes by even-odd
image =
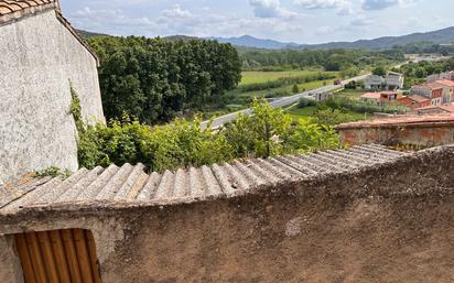
[[[264,48],[264,50],[281,50],[290,47],[299,47],[296,43],[285,43],[273,40],[261,40],[250,35],[242,35],[240,37],[208,37],[208,40],[215,40],[220,43],[230,43],[236,46]]]

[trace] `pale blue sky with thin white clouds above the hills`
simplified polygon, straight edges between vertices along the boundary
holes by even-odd
[[[112,35],[252,35],[302,44],[454,25],[453,0],[61,0],[77,29]]]

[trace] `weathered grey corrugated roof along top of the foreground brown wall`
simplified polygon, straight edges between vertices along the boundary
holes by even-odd
[[[0,215],[42,207],[151,206],[230,197],[376,167],[406,155],[381,145],[361,145],[348,151],[235,161],[150,175],[141,164],[82,168],[64,181],[29,177],[19,185],[0,187]]]

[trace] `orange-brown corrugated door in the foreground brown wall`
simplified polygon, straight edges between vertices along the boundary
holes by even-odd
[[[14,241],[25,283],[101,283],[88,230],[18,233]]]

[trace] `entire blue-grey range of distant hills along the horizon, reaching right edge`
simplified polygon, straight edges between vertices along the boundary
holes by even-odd
[[[450,44],[454,43],[454,28],[447,28],[444,30],[425,32],[425,33],[412,33],[403,36],[385,36],[375,40],[360,40],[355,42],[329,42],[323,44],[296,44],[285,43],[273,40],[261,40],[250,35],[244,35],[240,37],[210,37],[224,43],[231,43],[237,46],[253,47],[253,48],[369,48],[369,50],[387,50],[392,48],[394,45],[406,45],[410,43],[432,42],[434,44]]]

